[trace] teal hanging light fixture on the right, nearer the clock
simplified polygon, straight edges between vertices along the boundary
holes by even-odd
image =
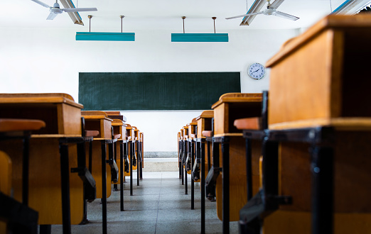
[[[184,30],[184,19],[183,18],[183,33],[171,33],[171,42],[186,42],[186,43],[196,43],[196,42],[228,42],[228,33],[216,33],[215,31],[215,19],[214,20],[214,33],[185,33]]]

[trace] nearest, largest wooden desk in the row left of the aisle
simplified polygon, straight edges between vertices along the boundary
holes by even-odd
[[[70,233],[70,223],[82,221],[83,182],[78,173],[70,173],[78,168],[77,159],[82,157],[77,152],[77,145],[84,142],[82,107],[68,94],[0,94],[0,118],[40,119],[46,124],[31,135],[29,142],[28,205],[38,211],[41,230],[63,223],[63,230]],[[0,146],[8,155],[15,155],[14,168],[22,167],[22,157],[16,156],[22,155],[20,144],[12,140]],[[14,198],[21,201],[21,176],[17,172],[13,174]]]

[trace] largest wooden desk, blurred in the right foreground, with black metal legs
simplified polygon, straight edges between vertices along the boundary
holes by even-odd
[[[264,196],[292,204],[270,208],[264,231],[370,233],[370,29],[370,16],[327,16],[267,62],[267,143],[276,150],[266,154],[279,180],[263,177]]]

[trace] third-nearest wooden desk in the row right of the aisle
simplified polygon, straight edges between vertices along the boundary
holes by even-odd
[[[195,155],[200,158],[200,179],[201,179],[201,233],[205,233],[205,177],[211,168],[210,162],[210,142],[208,147],[205,147],[206,137],[203,135],[203,131],[212,130],[212,118],[214,117],[214,111],[203,111],[195,121],[197,121],[197,135],[195,138]],[[205,150],[206,149],[206,150]],[[205,158],[205,155],[208,155]],[[207,165],[207,166],[206,166]],[[208,168],[208,169],[207,169]]]

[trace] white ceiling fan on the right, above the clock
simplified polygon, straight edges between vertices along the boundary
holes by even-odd
[[[241,16],[232,16],[232,17],[228,17],[226,19],[244,17],[241,25],[246,25],[246,24],[249,25],[249,23],[251,23],[252,19],[259,14],[264,14],[266,16],[279,16],[281,18],[286,18],[286,19],[289,19],[291,21],[296,21],[296,20],[299,19],[299,17],[291,16],[288,13],[277,11],[277,8],[279,7],[279,5],[282,4],[282,2],[284,0],[275,0],[272,4],[270,3],[270,0],[267,0],[268,1],[267,9],[265,9],[264,11],[260,11],[260,9],[262,9],[262,6],[264,5],[264,1],[266,1],[266,0],[256,0],[256,1],[254,1],[254,4],[249,9],[249,12],[247,12],[247,14],[244,14],[244,15],[241,15]],[[247,23],[248,20],[249,20],[249,22]]]

